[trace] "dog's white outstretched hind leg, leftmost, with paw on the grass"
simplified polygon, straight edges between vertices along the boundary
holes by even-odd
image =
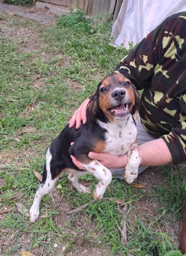
[[[43,195],[48,194],[50,191],[52,191],[59,177],[59,175],[57,175],[56,177],[52,177],[53,165],[51,165],[51,160],[52,160],[52,155],[48,148],[46,152],[46,164],[44,165],[44,168],[43,168],[43,179],[39,185],[39,188],[36,191],[34,202],[31,206],[30,213],[29,213],[31,222],[36,221],[39,216],[41,198],[43,197]]]

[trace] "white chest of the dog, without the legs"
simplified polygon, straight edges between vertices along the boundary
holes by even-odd
[[[121,156],[130,150],[137,136],[137,128],[132,116],[128,121],[114,121],[100,125],[107,130],[105,152]]]

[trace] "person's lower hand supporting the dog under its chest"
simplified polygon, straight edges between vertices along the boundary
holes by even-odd
[[[74,156],[71,156],[71,158],[72,162],[77,166],[77,168],[86,170]],[[124,168],[128,162],[128,157],[126,154],[123,156],[115,156],[110,153],[89,152],[89,158],[98,160],[108,169]]]

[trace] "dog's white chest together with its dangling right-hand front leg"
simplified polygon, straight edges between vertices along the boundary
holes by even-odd
[[[123,178],[131,184],[137,178],[138,167],[141,162],[137,151],[137,127],[132,115],[129,115],[129,118],[127,117],[123,121],[114,120],[109,123],[98,121],[98,124],[107,130],[104,152],[117,156],[127,153],[128,163]]]

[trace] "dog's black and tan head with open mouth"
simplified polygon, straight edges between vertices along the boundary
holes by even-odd
[[[89,114],[92,120],[124,120],[130,114],[134,115],[139,101],[139,94],[132,82],[121,74],[112,73],[97,86],[88,105]]]

